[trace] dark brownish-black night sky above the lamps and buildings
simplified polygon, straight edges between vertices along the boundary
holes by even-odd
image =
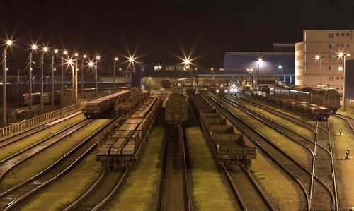
[[[13,54],[37,41],[105,61],[136,51],[139,61],[179,62],[192,52],[200,67],[218,68],[224,52],[270,51],[302,41],[304,29],[354,29],[354,1],[1,1],[0,16]]]

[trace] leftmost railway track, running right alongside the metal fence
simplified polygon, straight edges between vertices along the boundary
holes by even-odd
[[[65,121],[67,119],[70,119],[74,116],[77,116],[81,114],[81,111],[74,111],[70,114],[67,114],[65,116],[60,116],[57,119],[54,119],[52,121],[47,121],[45,123],[41,123],[38,126],[33,126],[30,127],[24,131],[20,131],[19,133],[15,133],[14,135],[7,135],[2,138],[0,138],[0,149],[3,147],[6,147],[8,145],[11,145],[13,143],[16,143],[18,140],[22,140],[23,138],[28,137],[29,135],[34,135],[35,133],[39,133],[40,131],[44,131],[47,128],[50,128],[51,126],[54,126],[57,123],[60,123],[62,121]]]

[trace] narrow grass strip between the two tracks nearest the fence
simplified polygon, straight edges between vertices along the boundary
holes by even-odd
[[[9,157],[13,154],[15,154],[18,151],[21,151],[25,149],[26,147],[29,147],[30,145],[33,145],[35,143],[38,143],[40,140],[43,140],[50,135],[53,135],[59,131],[62,131],[64,128],[67,128],[71,126],[72,124],[81,121],[82,119],[85,119],[85,116],[83,114],[79,114],[77,116],[74,116],[70,119],[67,119],[65,121],[62,121],[61,123],[57,123],[54,126],[51,126],[50,128],[47,128],[43,131],[40,131],[38,133],[35,133],[33,135],[29,135],[28,137],[23,138],[20,141],[17,141],[16,143],[13,143],[11,145],[8,145],[4,148],[0,149],[0,160],[5,159],[6,157]]]

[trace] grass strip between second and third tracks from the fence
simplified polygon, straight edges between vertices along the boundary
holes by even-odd
[[[46,169],[108,121],[110,121],[110,119],[98,119],[89,126],[81,128],[79,131],[64,138],[64,140],[59,141],[59,143],[56,143],[47,150],[26,160],[4,177],[3,181],[0,183],[1,191],[16,186],[18,183],[21,183]]]

